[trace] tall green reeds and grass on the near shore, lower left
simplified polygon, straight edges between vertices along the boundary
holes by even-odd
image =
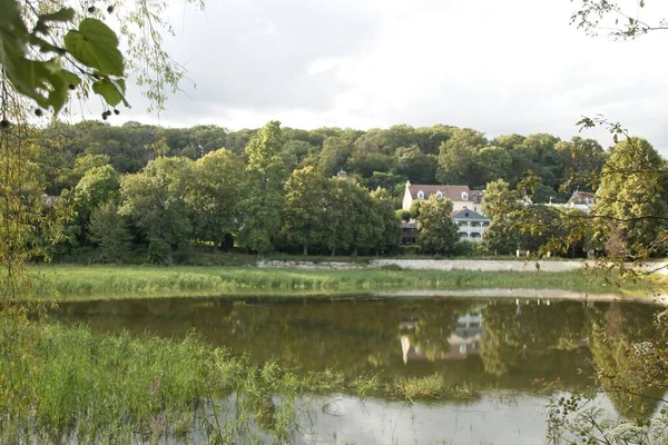
[[[195,335],[173,340],[92,334],[82,326],[0,314],[0,443],[163,443],[196,436],[253,443],[263,435],[289,443],[304,421],[299,397],[456,399],[443,382],[439,375],[382,383],[376,376],[347,380],[332,370],[298,374],[275,362],[252,364]]]

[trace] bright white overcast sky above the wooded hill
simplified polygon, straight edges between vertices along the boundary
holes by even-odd
[[[569,139],[581,116],[602,113],[668,155],[668,33],[588,37],[569,24],[578,2],[208,0],[205,12],[176,3],[167,48],[197,87],[185,82],[159,119],[134,89],[134,108],[115,122],[445,123]],[[668,2],[648,3],[668,17]],[[610,145],[603,131],[584,136]]]

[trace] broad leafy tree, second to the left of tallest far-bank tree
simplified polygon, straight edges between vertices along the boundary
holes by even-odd
[[[174,263],[174,249],[186,247],[193,233],[187,197],[193,186],[193,161],[159,158],[121,180],[121,215],[128,215],[149,241],[151,259]]]

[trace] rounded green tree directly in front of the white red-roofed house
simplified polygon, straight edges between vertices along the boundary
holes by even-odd
[[[419,243],[422,248],[432,254],[446,254],[454,249],[459,241],[459,227],[450,217],[452,201],[435,195],[429,197],[420,207],[418,228]]]

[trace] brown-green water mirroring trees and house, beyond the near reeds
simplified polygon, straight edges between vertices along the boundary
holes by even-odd
[[[276,304],[246,299],[150,299],[63,304],[53,317],[102,332],[151,332],[205,340],[278,358],[303,370],[332,368],[348,377],[440,373],[450,385],[537,392],[533,380],[567,389],[590,383],[591,360],[615,357],[602,334],[642,340],[652,333],[651,306],[621,303],[509,299],[391,299]]]

